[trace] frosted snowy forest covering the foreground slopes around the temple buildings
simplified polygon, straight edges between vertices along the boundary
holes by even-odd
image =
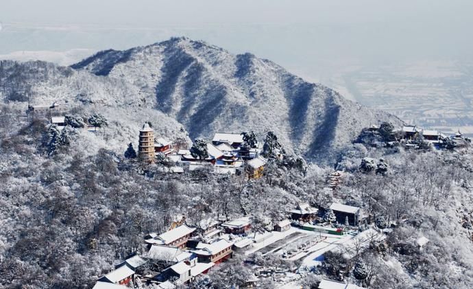
[[[166,231],[175,216],[186,216],[188,224],[250,216],[254,229],[265,231],[264,218],[278,222],[298,202],[324,211],[332,201],[361,207],[367,226],[391,231],[350,258],[327,253],[322,266],[302,273],[304,288],[317,288],[322,277],[365,288],[473,286],[471,146],[407,150],[354,143],[337,167],[301,165],[286,155],[270,159],[263,178],[248,180],[210,170],[169,174],[162,170],[166,161],[145,165],[125,157],[128,143],[122,152],[104,147],[84,153],[90,148],[75,132],[79,128],[58,133],[45,117],[23,117],[7,105],[0,111],[3,288],[91,288],[130,253],[143,252],[143,237]],[[383,170],[363,168],[367,157],[378,167],[383,163]],[[335,168],[346,177],[331,189],[326,178]],[[414,245],[420,236],[430,240],[422,250]],[[280,261],[236,255],[190,286],[239,286],[253,264],[271,262]]]

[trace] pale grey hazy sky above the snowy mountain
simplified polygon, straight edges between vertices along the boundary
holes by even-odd
[[[189,36],[309,71],[473,57],[471,0],[0,0],[0,54]]]

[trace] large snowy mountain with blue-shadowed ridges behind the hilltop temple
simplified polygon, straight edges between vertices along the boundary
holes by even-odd
[[[143,104],[177,119],[192,138],[274,130],[289,150],[315,160],[333,157],[370,124],[400,124],[269,60],[188,38],[102,51],[72,67],[135,86]]]

